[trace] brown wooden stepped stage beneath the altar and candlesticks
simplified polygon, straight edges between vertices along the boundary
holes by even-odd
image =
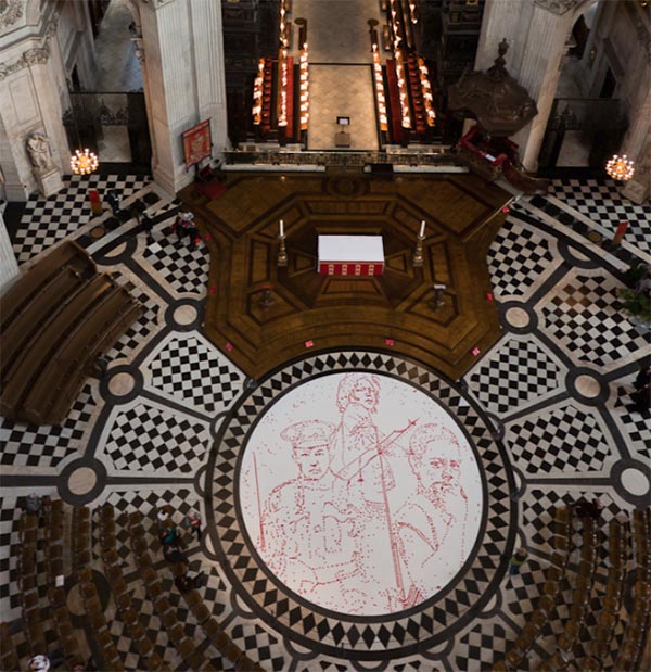
[[[510,194],[492,182],[459,174],[229,173],[226,186],[214,201],[192,186],[179,198],[210,253],[205,332],[246,375],[259,378],[311,342],[314,351],[391,347],[458,379],[473,348],[498,338],[486,254]],[[279,219],[286,267],[277,263]],[[414,268],[422,219],[424,263]],[[382,236],[384,275],[318,275],[319,234]],[[447,286],[437,309],[433,283]]]

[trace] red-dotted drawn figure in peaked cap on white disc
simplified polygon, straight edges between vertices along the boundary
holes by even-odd
[[[360,583],[356,518],[346,482],[330,468],[329,441],[334,426],[304,420],[286,427],[281,439],[292,446],[298,476],[275,487],[265,505],[263,529],[269,568],[302,595],[318,594],[319,604],[341,608],[368,600]],[[352,580],[346,587],[346,583]],[[353,606],[355,608],[355,606]]]

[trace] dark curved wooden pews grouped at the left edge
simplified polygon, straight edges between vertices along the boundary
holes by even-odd
[[[97,357],[141,312],[77,243],[55,248],[0,297],[0,414],[63,422]]]

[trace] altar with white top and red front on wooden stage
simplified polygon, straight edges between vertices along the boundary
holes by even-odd
[[[322,276],[381,276],[382,236],[319,236],[318,259]]]

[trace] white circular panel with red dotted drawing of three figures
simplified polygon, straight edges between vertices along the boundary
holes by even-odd
[[[291,591],[342,613],[395,613],[459,572],[483,508],[454,418],[387,376],[330,373],[282,396],[240,472],[248,535]]]

